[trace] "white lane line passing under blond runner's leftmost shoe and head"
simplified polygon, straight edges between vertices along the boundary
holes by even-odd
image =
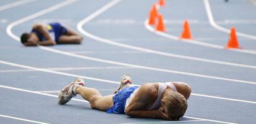
[[[44,96],[51,96],[51,97],[58,98],[57,95],[49,95],[49,94],[40,93],[40,92],[37,92],[37,91],[25,90],[25,89],[22,89],[22,88],[15,88],[15,87],[9,87],[9,86],[4,86],[4,85],[0,85],[0,87],[2,87],[2,88],[7,88],[7,89],[11,89],[11,90],[17,90],[17,91],[25,91],[25,92],[27,92],[27,93],[34,93],[34,94],[37,94],[37,95],[44,95]],[[89,103],[88,101],[81,100],[81,99],[72,98],[71,100]],[[210,122],[230,123],[230,122],[221,122],[221,121],[218,121],[218,120],[210,120],[210,119],[205,119],[205,118],[196,118],[196,117],[187,117],[187,116],[184,116],[184,117],[186,117],[186,118],[192,118],[192,119],[197,119],[197,120],[207,120],[207,121],[210,121]]]

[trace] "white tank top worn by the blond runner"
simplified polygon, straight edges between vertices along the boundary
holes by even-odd
[[[166,83],[158,83],[159,84],[159,88],[158,88],[158,96],[156,98],[155,103],[153,103],[153,105],[148,109],[148,110],[155,110],[158,109],[161,106],[161,99],[162,99],[162,94],[164,89],[169,86],[171,87],[174,91],[177,91],[176,87],[173,85],[172,82],[166,82]],[[136,90],[134,90],[134,92],[130,95],[130,97],[126,100],[126,106],[124,108],[124,112],[126,112],[126,107],[129,106],[130,102],[132,101],[132,98],[134,98],[134,96],[136,95],[137,91],[139,90],[139,88],[137,88]]]

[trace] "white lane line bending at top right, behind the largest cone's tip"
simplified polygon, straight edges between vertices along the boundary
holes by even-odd
[[[213,14],[211,12],[211,7],[210,7],[209,1],[208,0],[203,0],[203,2],[205,4],[205,9],[206,9],[206,12],[207,12],[207,17],[208,17],[208,20],[210,22],[210,25],[213,26],[214,28],[220,30],[220,31],[223,31],[224,33],[229,34],[230,33],[229,29],[223,28],[223,27],[221,27],[221,26],[219,26],[215,23],[214,18],[213,18]],[[252,36],[252,35],[249,35],[249,34],[236,32],[236,35],[241,36],[241,37],[245,37],[245,38],[248,38],[248,39],[256,40],[256,36]]]

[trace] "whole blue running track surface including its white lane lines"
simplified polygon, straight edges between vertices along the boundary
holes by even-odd
[[[0,122],[256,123],[255,1],[166,1],[159,9],[164,33],[145,23],[155,2],[1,1]],[[184,20],[189,20],[193,41],[177,38]],[[83,43],[23,47],[18,42],[33,23],[50,21],[75,29]],[[232,26],[241,33],[242,50],[219,48],[229,39],[223,28]],[[57,104],[59,90],[75,77],[108,95],[122,74],[131,74],[137,85],[189,83],[192,95],[185,117],[171,122],[106,114],[90,109],[79,96]]]

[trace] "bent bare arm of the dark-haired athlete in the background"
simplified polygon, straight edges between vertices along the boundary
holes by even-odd
[[[51,39],[48,33],[48,29],[46,29],[45,24],[43,23],[37,23],[33,26],[33,29],[36,29],[36,31],[39,31],[43,36],[45,37],[46,41],[38,41],[38,45],[55,45],[56,42]]]

